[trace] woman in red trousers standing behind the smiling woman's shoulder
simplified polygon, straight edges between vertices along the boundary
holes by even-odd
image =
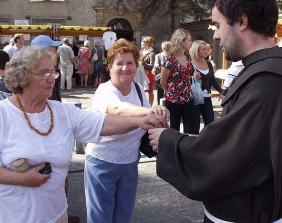
[[[141,48],[143,49],[142,51],[142,58],[143,62],[142,65],[144,66],[145,72],[147,77],[150,80],[149,83],[149,90],[145,90],[145,92],[148,92],[149,94],[149,103],[150,105],[153,104],[154,102],[154,83],[155,83],[155,76],[151,72],[154,66],[155,62],[155,53],[153,52],[153,45],[154,39],[152,36],[147,36],[144,38],[144,40],[141,43]]]

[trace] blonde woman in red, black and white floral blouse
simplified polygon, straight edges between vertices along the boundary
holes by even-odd
[[[166,91],[165,106],[170,111],[170,126],[179,131],[182,119],[184,133],[198,134],[190,83],[190,77],[193,75],[188,54],[192,46],[191,34],[186,29],[177,29],[170,42],[170,52],[163,64],[160,78],[160,84]]]

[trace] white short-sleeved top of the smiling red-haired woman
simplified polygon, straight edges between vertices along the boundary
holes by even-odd
[[[143,87],[139,84],[143,97],[143,106],[151,107],[146,97]],[[123,101],[141,106],[134,83],[131,83],[131,91],[127,96],[123,96],[120,91],[113,86],[111,80],[100,84],[93,97],[93,111],[106,113],[108,105],[112,102]],[[146,131],[142,128],[113,136],[103,136],[98,144],[88,143],[86,155],[111,163],[127,164],[138,159],[141,138]]]

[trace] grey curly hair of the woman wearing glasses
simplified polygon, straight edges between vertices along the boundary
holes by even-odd
[[[30,71],[45,57],[50,59],[53,65],[56,64],[55,55],[39,46],[28,46],[14,54],[6,64],[5,86],[14,94],[22,93],[23,87],[30,81]]]

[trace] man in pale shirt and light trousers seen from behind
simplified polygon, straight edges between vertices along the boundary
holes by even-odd
[[[70,46],[68,46],[69,40],[67,38],[63,39],[63,45],[59,46],[57,53],[59,55],[61,64],[61,90],[65,89],[65,81],[67,79],[67,90],[72,90],[71,88],[71,77],[73,74],[73,63],[74,63],[74,53]]]

